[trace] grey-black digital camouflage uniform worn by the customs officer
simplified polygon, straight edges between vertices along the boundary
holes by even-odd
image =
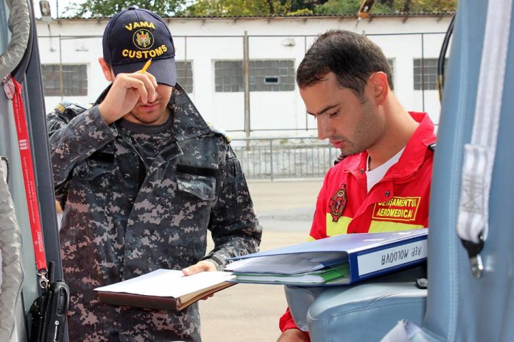
[[[261,227],[226,137],[180,86],[169,105],[174,139],[142,179],[134,176],[144,167],[138,153],[96,106],[72,120],[49,115],[56,196],[64,204],[70,341],[200,341],[196,304],[184,311],[109,306],[93,289],[201,259],[222,269],[228,257],[258,250]],[[207,230],[215,244],[208,254]]]

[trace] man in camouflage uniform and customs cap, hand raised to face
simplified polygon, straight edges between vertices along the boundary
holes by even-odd
[[[156,269],[221,270],[228,257],[258,250],[261,227],[241,165],[176,84],[173,57],[160,17],[121,11],[99,58],[111,86],[89,110],[58,106],[49,115],[70,341],[201,341],[197,304],[110,306],[94,289]]]

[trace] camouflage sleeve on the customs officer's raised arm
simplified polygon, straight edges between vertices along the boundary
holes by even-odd
[[[98,107],[80,113],[74,118],[50,114],[47,116],[49,145],[54,186],[56,192],[66,186],[74,166],[106,145],[116,136],[101,118]]]

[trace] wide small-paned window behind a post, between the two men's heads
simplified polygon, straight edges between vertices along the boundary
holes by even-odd
[[[244,90],[243,61],[214,62],[216,92]],[[290,60],[250,61],[250,91],[293,91],[294,62]]]

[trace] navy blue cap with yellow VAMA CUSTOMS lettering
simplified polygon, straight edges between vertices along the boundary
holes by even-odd
[[[109,20],[102,40],[104,60],[114,75],[141,70],[152,58],[148,73],[157,83],[176,84],[175,48],[168,26],[160,16],[130,6]]]

